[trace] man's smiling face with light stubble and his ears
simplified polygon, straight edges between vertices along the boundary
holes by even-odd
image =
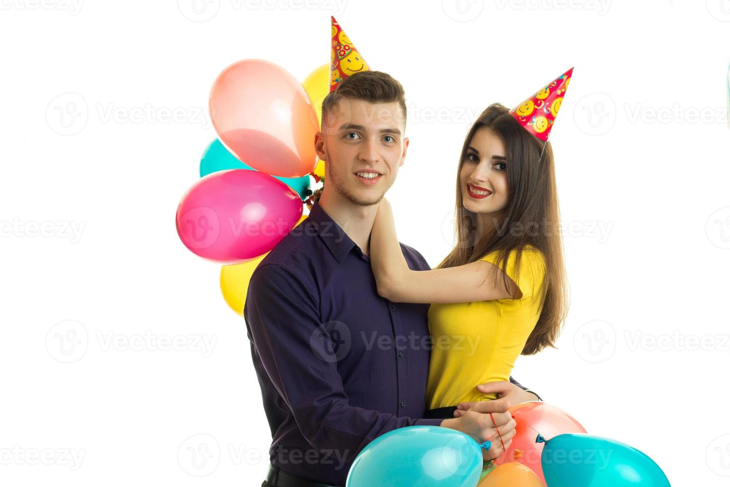
[[[406,156],[405,126],[397,101],[339,101],[315,138],[317,155],[325,161],[326,188],[360,206],[380,202]]]

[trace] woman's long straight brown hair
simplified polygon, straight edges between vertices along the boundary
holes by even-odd
[[[502,139],[507,150],[507,188],[510,197],[507,207],[494,221],[493,231],[479,235],[476,231],[480,228],[477,218],[481,217],[466,210],[462,204],[464,195],[459,175],[466,159],[466,148],[475,132],[482,127],[491,129]],[[533,355],[546,347],[554,348],[561,324],[566,318],[568,298],[559,218],[550,142],[542,142],[529,134],[512,118],[504,105],[490,105],[469,129],[461,149],[456,172],[457,243],[438,268],[468,264],[497,251],[497,262],[502,269],[507,269],[511,250],[516,250],[517,264],[526,245],[532,245],[542,252],[545,258],[545,280],[535,296],[541,300],[542,311],[522,350],[523,355]],[[504,286],[507,288],[506,272]]]

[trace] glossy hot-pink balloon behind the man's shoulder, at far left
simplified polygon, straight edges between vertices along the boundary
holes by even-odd
[[[180,200],[175,220],[191,252],[236,264],[272,250],[303,210],[296,191],[275,177],[230,169],[201,177]]]

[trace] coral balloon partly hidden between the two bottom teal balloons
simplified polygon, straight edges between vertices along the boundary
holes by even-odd
[[[518,461],[530,467],[539,480],[545,483],[541,461],[543,443],[535,442],[537,435],[551,438],[562,433],[585,433],[585,428],[564,410],[545,402],[523,402],[512,407],[510,413],[517,423],[516,434],[510,448],[502,453],[496,464],[512,461],[515,459],[515,450],[522,450]]]

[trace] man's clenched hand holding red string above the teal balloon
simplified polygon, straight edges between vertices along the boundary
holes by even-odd
[[[489,450],[482,448],[482,455],[485,460],[496,459],[504,453],[505,448],[510,448],[512,437],[515,436],[516,423],[509,409],[510,403],[507,401],[479,401],[468,411],[463,411],[461,418],[445,419],[441,426],[466,433],[480,444],[490,441],[491,447]]]

